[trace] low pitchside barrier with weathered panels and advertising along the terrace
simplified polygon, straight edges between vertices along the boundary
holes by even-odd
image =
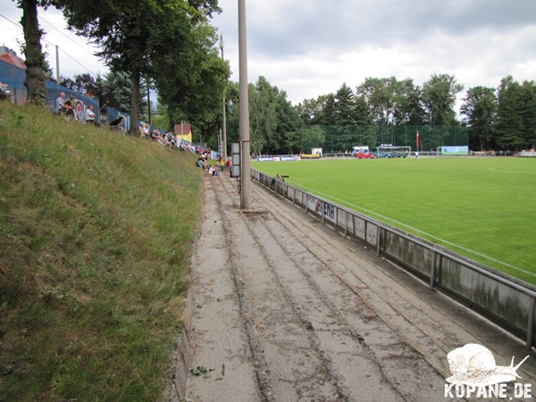
[[[350,239],[362,242],[526,342],[534,344],[536,288],[403,230],[251,170],[251,177]]]

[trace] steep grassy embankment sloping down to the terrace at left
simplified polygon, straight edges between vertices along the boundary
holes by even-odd
[[[0,401],[155,400],[181,327],[195,156],[0,102]]]

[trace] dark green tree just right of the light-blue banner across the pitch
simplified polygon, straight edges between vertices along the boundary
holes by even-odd
[[[469,88],[460,113],[465,114],[464,122],[469,126],[469,139],[477,140],[481,150],[490,145],[497,117],[497,96],[495,88]]]

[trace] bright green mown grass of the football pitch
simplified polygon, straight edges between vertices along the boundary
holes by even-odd
[[[289,184],[536,284],[536,159],[252,163]]]

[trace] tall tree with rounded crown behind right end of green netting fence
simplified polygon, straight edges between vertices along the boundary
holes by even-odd
[[[423,105],[429,114],[431,126],[453,126],[456,121],[456,95],[464,90],[462,84],[456,83],[454,75],[433,74],[423,84]]]

